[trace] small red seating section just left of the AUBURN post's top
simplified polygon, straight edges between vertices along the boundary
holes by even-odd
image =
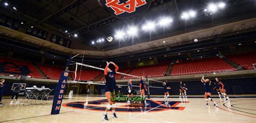
[[[60,67],[54,67],[49,65],[38,65],[38,66],[39,66],[39,69],[45,74],[45,76],[48,79],[58,80],[62,71],[65,70]]]

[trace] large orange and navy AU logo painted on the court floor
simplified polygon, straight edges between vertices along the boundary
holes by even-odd
[[[149,105],[146,105],[143,108],[130,107],[128,103],[117,103],[116,111],[117,112],[160,112],[167,110],[181,110],[183,111],[185,107],[179,106],[181,103],[189,103],[189,101],[156,101],[156,100],[147,100]],[[90,110],[90,111],[105,111],[107,100],[95,100],[95,101],[77,101],[63,104],[63,106],[68,108],[76,108],[79,110]]]

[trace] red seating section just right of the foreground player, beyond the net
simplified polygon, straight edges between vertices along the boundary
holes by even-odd
[[[137,67],[136,69],[129,72],[129,74],[134,76],[164,77],[168,67],[169,67],[169,63]],[[125,76],[123,79],[130,79],[130,78],[134,78],[134,77]]]

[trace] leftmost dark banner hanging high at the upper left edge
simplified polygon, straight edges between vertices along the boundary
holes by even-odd
[[[17,19],[2,15],[0,13],[0,25],[13,30],[18,30],[21,22]]]

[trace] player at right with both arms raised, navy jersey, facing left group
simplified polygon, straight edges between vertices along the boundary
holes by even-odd
[[[217,106],[218,104],[215,103],[215,101],[213,101],[213,99],[211,98],[212,95],[212,88],[210,87],[211,85],[211,81],[210,79],[205,79],[204,76],[201,79],[201,82],[204,84],[205,87],[205,101],[206,101],[206,106],[209,106],[208,104],[208,100],[212,101],[214,103],[214,106]]]

